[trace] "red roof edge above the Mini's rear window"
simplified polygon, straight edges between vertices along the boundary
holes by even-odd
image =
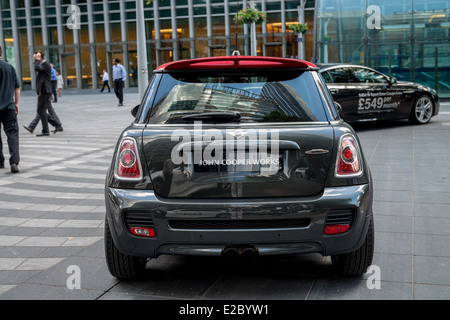
[[[258,56],[223,56],[168,62],[156,70],[201,70],[239,68],[317,68],[313,63],[286,58]]]

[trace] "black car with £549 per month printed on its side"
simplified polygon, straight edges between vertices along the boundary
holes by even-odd
[[[439,113],[439,97],[432,88],[397,81],[358,65],[318,67],[347,122],[409,119],[414,124],[425,124]]]

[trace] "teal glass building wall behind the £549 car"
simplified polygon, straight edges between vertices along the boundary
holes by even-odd
[[[315,59],[372,67],[450,97],[449,0],[318,0]]]

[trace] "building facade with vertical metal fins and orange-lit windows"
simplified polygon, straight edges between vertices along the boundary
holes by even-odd
[[[144,2],[149,69],[168,61],[250,52],[250,29],[233,23],[235,13],[251,1],[137,0]],[[257,54],[297,57],[299,0],[254,1],[267,12],[256,27]],[[305,21],[314,25],[314,0],[306,2]],[[137,86],[136,0],[0,0],[0,45],[24,89],[34,86],[30,72],[35,50],[61,72],[68,88],[97,88],[112,59],[123,61]],[[75,11],[74,11],[75,10]],[[76,20],[74,20],[76,19]],[[74,22],[80,29],[70,28]],[[236,32],[238,41],[236,46]],[[313,53],[313,33],[306,34],[306,55]]]

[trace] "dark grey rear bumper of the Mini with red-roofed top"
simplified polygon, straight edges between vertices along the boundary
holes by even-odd
[[[161,254],[221,255],[230,245],[251,245],[260,255],[318,252],[334,255],[358,249],[372,215],[370,184],[326,188],[315,197],[192,200],[161,199],[153,191],[106,188],[106,218],[116,247],[124,254],[154,258]],[[339,235],[325,235],[331,211],[354,213],[351,228]],[[153,225],[156,236],[133,235],[125,215],[142,217]],[[290,221],[305,219],[303,226]],[[169,221],[244,221],[245,229],[226,227],[177,227]],[[282,226],[252,228],[250,220],[281,221]],[[287,223],[286,223],[287,222]],[[239,223],[239,222],[238,222]],[[227,225],[225,223],[225,225]],[[248,227],[250,225],[250,227]]]

